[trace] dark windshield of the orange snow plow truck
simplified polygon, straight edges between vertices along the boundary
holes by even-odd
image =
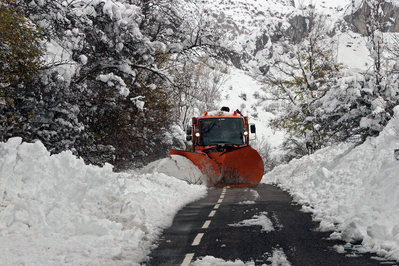
[[[199,119],[199,145],[233,144],[243,145],[244,121],[242,118]]]

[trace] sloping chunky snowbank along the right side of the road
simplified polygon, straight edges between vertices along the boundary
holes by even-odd
[[[399,261],[399,106],[377,138],[353,148],[326,148],[267,173],[312,212],[332,238],[361,241],[363,248]],[[308,206],[306,206],[308,205]]]

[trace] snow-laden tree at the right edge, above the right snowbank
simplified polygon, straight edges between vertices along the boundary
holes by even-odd
[[[371,66],[365,71],[342,70],[332,87],[321,99],[313,122],[330,128],[332,142],[361,144],[368,136],[377,136],[393,116],[399,103],[398,76],[395,73],[395,42],[383,37],[386,28],[385,0],[363,2],[362,22]],[[387,47],[389,47],[387,51]]]

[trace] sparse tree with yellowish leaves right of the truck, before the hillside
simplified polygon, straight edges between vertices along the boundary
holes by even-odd
[[[342,64],[336,61],[336,42],[327,36],[329,25],[324,15],[308,6],[303,16],[307,23],[303,41],[292,44],[282,39],[282,53],[275,53],[269,71],[255,71],[253,76],[265,84],[269,99],[285,102],[284,113],[272,125],[303,138],[313,152],[326,142],[326,132],[308,118],[335,86],[333,78]]]

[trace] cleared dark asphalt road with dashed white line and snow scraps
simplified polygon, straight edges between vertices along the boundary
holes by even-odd
[[[254,191],[259,197],[255,198]],[[255,203],[238,204],[243,201]],[[142,265],[188,266],[207,255],[271,265],[267,258],[276,249],[284,252],[292,266],[393,265],[371,259],[375,254],[349,249],[337,253],[332,246],[345,242],[327,240],[331,232],[317,231],[318,223],[300,209],[288,193],[271,185],[209,189],[207,197],[178,212],[158,248],[152,250],[150,260]],[[274,231],[262,232],[260,225],[231,226],[263,212],[267,212],[264,214],[273,223]]]

